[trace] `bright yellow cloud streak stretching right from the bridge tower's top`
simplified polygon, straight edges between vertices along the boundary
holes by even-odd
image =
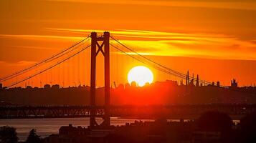
[[[49,29],[90,32],[92,29]],[[102,33],[104,30],[95,30]],[[156,56],[193,56],[214,59],[256,59],[256,44],[224,34],[186,34],[167,31],[117,29],[110,31],[123,44],[141,54]],[[116,44],[115,41],[111,41]]]

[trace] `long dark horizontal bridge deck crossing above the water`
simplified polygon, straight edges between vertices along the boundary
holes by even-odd
[[[105,107],[97,106],[19,106],[0,107],[0,119],[31,118],[71,118],[92,117],[91,109],[95,109],[94,117],[104,117]],[[256,111],[256,104],[198,104],[168,106],[111,106],[111,117],[156,119],[196,119],[207,111],[219,111],[229,114],[233,119],[240,119],[245,114]]]

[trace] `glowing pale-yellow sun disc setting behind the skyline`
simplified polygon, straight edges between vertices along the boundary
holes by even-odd
[[[134,66],[128,72],[128,82],[136,82],[139,87],[143,87],[146,83],[153,82],[153,73],[146,66]]]

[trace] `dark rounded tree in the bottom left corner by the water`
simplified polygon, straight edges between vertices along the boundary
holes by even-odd
[[[17,143],[18,139],[14,127],[4,126],[0,128],[0,143]]]

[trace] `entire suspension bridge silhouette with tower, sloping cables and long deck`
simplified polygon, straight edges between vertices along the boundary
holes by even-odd
[[[84,41],[91,39],[91,44],[83,46],[82,49],[79,47]],[[115,41],[118,46],[110,43],[110,39]],[[126,52],[120,47],[127,49]],[[123,42],[116,39],[114,36],[110,35],[108,31],[105,31],[103,35],[98,35],[96,32],[92,32],[89,36],[85,37],[76,44],[70,46],[69,48],[61,51],[58,54],[54,54],[47,59],[39,61],[37,64],[29,66],[26,69],[17,71],[13,74],[1,78],[0,82],[6,82],[10,79],[15,79],[17,76],[27,73],[32,69],[37,69],[39,66],[48,63],[49,61],[54,61],[55,59],[60,59],[63,56],[66,56],[72,51],[78,49],[75,54],[65,57],[58,61],[56,64],[48,66],[46,69],[42,69],[33,74],[30,74],[28,77],[16,81],[9,86],[8,88],[14,87],[17,84],[27,81],[33,77],[37,77],[39,74],[48,71],[55,66],[64,63],[65,61],[71,59],[74,56],[79,55],[85,49],[90,49],[90,105],[83,107],[76,106],[59,106],[59,107],[1,107],[0,108],[0,118],[1,119],[13,119],[13,118],[54,118],[54,117],[90,117],[90,127],[95,127],[98,123],[95,120],[95,117],[102,117],[104,126],[110,126],[110,117],[145,117],[145,118],[156,118],[156,117],[168,117],[172,119],[194,119],[196,116],[201,114],[201,112],[219,110],[227,112],[228,114],[234,115],[243,115],[255,111],[255,106],[247,105],[169,105],[169,106],[111,106],[110,105],[110,48],[114,48],[123,54],[130,56],[131,58],[139,61],[143,64],[153,67],[154,69],[161,71],[165,74],[170,74],[174,77],[180,79],[185,79],[186,82],[191,79],[194,80],[194,77],[190,77],[189,74],[184,74],[174,69],[170,69],[167,66],[164,66],[161,63],[154,61],[138,52],[134,51],[132,48],[123,44]],[[104,56],[104,78],[105,78],[105,105],[97,106],[95,104],[95,89],[96,89],[96,57],[99,54]],[[136,56],[135,56],[136,55]],[[212,84],[212,82],[207,82],[199,79],[198,84]],[[225,86],[220,85],[219,87],[226,88]],[[181,114],[182,113],[182,114]]]

